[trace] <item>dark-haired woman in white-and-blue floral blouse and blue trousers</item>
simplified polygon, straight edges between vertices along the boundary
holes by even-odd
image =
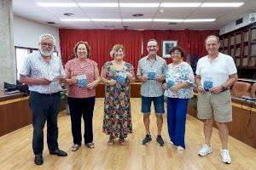
[[[183,152],[187,106],[193,96],[195,77],[191,66],[183,62],[182,48],[172,48],[170,54],[172,63],[167,65],[166,83],[163,84],[167,97],[167,126],[170,144]]]

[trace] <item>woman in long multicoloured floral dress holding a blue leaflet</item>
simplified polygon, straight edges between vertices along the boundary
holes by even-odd
[[[102,82],[105,87],[103,133],[109,135],[108,144],[119,138],[125,144],[127,133],[132,132],[130,84],[135,82],[133,66],[123,60],[124,47],[113,46],[110,52],[112,61],[102,67]]]

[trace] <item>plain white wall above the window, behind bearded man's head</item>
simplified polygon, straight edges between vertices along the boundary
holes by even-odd
[[[49,33],[55,37],[56,48],[60,53],[59,28],[46,26],[32,20],[14,16],[14,42],[15,46],[25,48],[38,48],[39,36]]]

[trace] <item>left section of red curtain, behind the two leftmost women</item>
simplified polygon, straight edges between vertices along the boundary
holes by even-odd
[[[113,45],[120,43],[125,48],[125,61],[137,68],[142,54],[142,34],[128,30],[60,30],[61,56],[65,64],[73,54],[73,47],[79,41],[86,41],[90,46],[90,58],[95,60],[101,70],[110,58]]]

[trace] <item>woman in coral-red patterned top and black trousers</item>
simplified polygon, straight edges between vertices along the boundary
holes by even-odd
[[[84,119],[84,144],[90,149],[93,143],[92,116],[95,105],[96,86],[101,82],[95,61],[89,59],[88,42],[77,42],[73,48],[74,59],[67,61],[65,71],[68,83],[68,105],[70,110],[73,147],[79,150],[82,143],[81,116]]]

